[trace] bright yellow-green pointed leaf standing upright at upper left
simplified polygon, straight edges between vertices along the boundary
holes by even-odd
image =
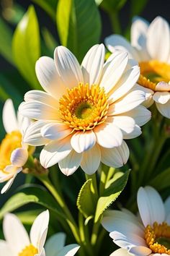
[[[31,88],[40,89],[35,62],[40,57],[40,31],[34,7],[29,7],[17,25],[12,40],[14,62]]]

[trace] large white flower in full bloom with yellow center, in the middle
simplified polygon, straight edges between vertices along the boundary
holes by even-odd
[[[71,175],[79,166],[86,174],[100,161],[120,167],[128,161],[123,139],[140,135],[151,113],[139,106],[145,93],[135,88],[140,75],[128,53],[116,53],[104,64],[104,45],[93,46],[82,61],[64,46],[55,48],[54,60],[42,56],[37,78],[46,92],[31,90],[19,106],[23,116],[35,119],[24,135],[30,145],[45,145],[40,163],[59,164]]]

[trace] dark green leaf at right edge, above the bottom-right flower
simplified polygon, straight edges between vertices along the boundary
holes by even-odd
[[[170,168],[167,168],[154,177],[149,184],[155,187],[158,191],[170,187]]]

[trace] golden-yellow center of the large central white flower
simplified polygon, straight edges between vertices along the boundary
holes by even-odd
[[[68,89],[59,103],[61,119],[73,130],[85,132],[107,119],[108,96],[99,85],[80,83],[77,87]]]

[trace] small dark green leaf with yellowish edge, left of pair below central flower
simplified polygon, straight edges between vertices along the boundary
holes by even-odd
[[[92,179],[88,179],[81,187],[77,199],[77,207],[85,218],[94,216],[95,205],[97,202],[94,200],[94,190],[92,186]]]

